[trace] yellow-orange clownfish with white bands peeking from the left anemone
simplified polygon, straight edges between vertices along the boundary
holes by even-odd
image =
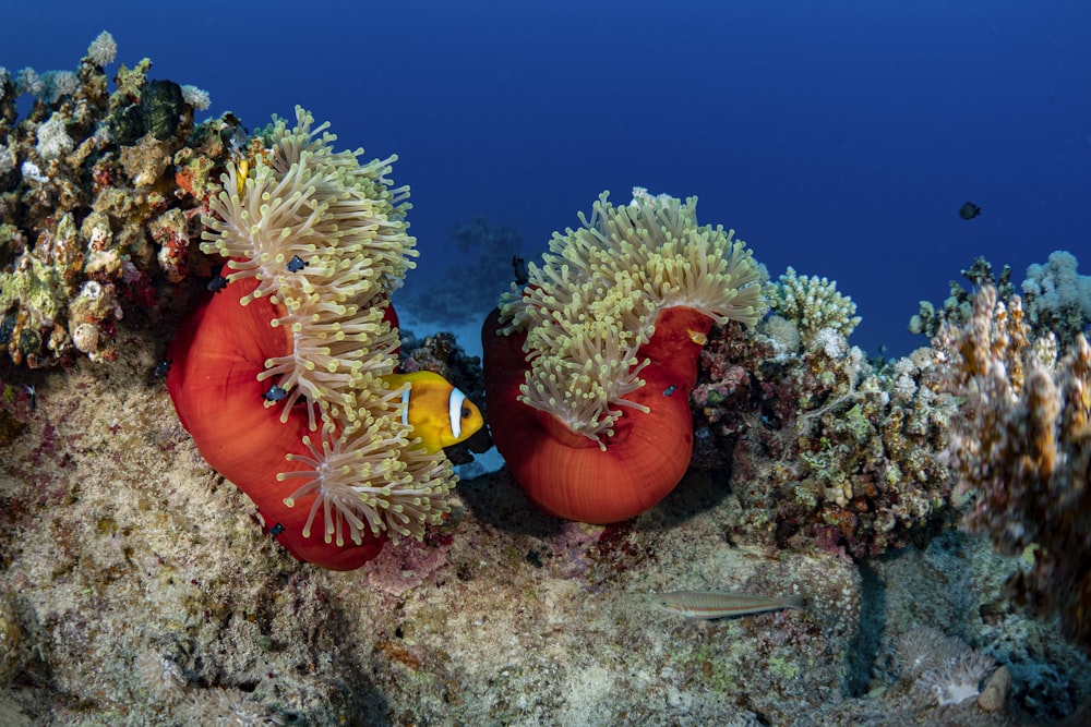
[[[383,380],[391,388],[409,384],[401,393],[401,423],[412,427],[413,435],[430,452],[456,445],[484,425],[473,402],[439,374],[418,371],[391,374]]]

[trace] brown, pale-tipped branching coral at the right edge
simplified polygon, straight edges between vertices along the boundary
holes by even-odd
[[[935,347],[962,401],[947,457],[972,498],[966,524],[1003,553],[1032,554],[1012,585],[1091,644],[1091,346],[1079,335],[1058,360],[1021,300],[986,286]]]

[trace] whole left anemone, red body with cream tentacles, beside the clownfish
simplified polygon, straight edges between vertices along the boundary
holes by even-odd
[[[412,266],[394,158],[360,165],[297,108],[268,147],[228,165],[202,250],[221,290],[183,323],[167,386],[202,455],[253,499],[293,555],[359,567],[388,537],[421,537],[456,481],[425,450],[393,385],[387,295]],[[467,435],[468,436],[468,435]]]

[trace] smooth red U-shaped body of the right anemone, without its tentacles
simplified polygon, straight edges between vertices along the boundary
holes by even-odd
[[[628,395],[637,408],[622,413],[602,448],[574,434],[555,414],[518,401],[530,371],[523,353],[526,336],[497,336],[499,314],[490,316],[482,331],[490,426],[530,499],[559,518],[610,523],[633,518],[670,494],[690,467],[690,392],[702,349],[695,339],[711,323],[686,307],[659,315],[655,335],[637,352],[650,361],[640,369],[644,386]]]

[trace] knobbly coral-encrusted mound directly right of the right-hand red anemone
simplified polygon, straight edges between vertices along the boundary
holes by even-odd
[[[803,343],[771,316],[754,336],[714,327],[700,355],[694,464],[730,465],[739,536],[866,558],[926,534],[950,509],[954,412],[931,353],[873,364],[831,327]]]

